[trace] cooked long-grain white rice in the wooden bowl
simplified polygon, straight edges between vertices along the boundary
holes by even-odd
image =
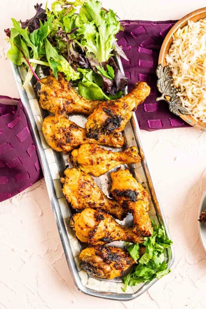
[[[166,61],[183,107],[206,122],[206,19],[188,21],[174,33]]]

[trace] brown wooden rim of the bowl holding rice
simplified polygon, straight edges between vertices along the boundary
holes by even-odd
[[[160,54],[159,54],[159,60],[158,60],[158,64],[162,64],[162,66],[166,66],[166,55],[169,52],[170,46],[173,42],[173,38],[172,35],[179,29],[179,28],[183,28],[184,26],[187,25],[188,20],[192,20],[194,22],[200,20],[200,19],[204,19],[206,18],[206,7],[203,7],[201,9],[195,10],[189,14],[187,14],[186,16],[184,16],[182,19],[180,19],[177,23],[174,24],[174,26],[170,29],[170,31],[167,33],[161,50],[160,50]],[[206,131],[206,123],[198,120],[196,121],[194,118],[192,118],[190,115],[180,115],[180,117],[186,121],[189,125],[192,125],[193,127],[200,129],[202,131]]]

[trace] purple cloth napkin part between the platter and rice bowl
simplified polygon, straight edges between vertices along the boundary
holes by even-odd
[[[137,106],[136,116],[140,129],[153,131],[189,127],[180,117],[169,111],[165,101],[156,101],[160,96],[156,83],[155,70],[161,45],[171,27],[176,23],[168,21],[123,20],[124,32],[117,34],[118,44],[122,46],[129,61],[121,58],[124,73],[131,80],[129,89],[137,81],[145,81],[151,92],[143,104]]]

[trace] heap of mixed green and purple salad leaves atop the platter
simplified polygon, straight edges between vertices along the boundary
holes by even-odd
[[[104,10],[97,0],[57,0],[51,9],[47,4],[45,9],[42,4],[34,7],[31,19],[12,18],[13,28],[5,30],[11,44],[7,57],[28,69],[23,87],[33,75],[39,80],[35,70],[40,64],[56,78],[63,72],[87,99],[119,98],[129,80],[112,57],[116,51],[126,58],[116,43],[116,33],[123,29],[114,11]]]

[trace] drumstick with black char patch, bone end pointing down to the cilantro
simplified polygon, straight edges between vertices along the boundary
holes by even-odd
[[[137,235],[151,236],[153,229],[148,214],[151,199],[149,193],[128,169],[112,172],[110,176],[111,194],[133,215],[133,231]]]

